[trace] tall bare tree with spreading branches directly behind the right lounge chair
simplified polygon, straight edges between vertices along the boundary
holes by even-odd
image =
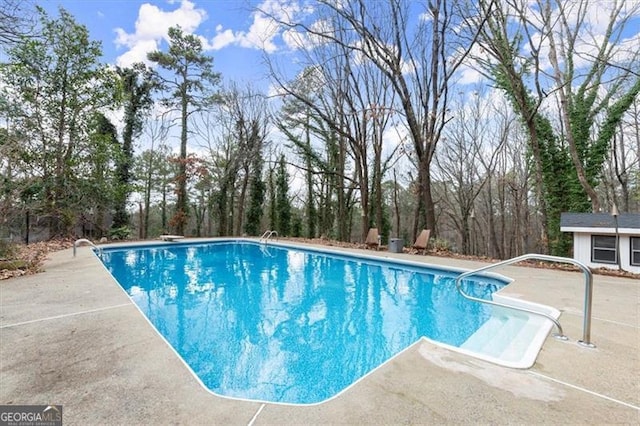
[[[465,25],[458,2],[421,5],[404,0],[385,2],[318,2],[317,20],[279,22],[312,40],[337,44],[355,58],[366,58],[388,79],[405,116],[418,164],[418,208],[414,224],[435,230],[431,194],[431,161],[448,120],[448,91],[454,74],[473,45],[479,28]],[[419,15],[419,25],[412,18]],[[480,25],[481,27],[481,25]],[[336,36],[337,33],[348,37]],[[464,34],[464,37],[463,37]],[[324,65],[324,64],[323,64]]]

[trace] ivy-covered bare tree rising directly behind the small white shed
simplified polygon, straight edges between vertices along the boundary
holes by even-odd
[[[603,34],[596,34],[589,29],[587,17],[601,4],[587,0],[538,1],[541,30],[548,37],[555,94],[560,101],[563,136],[580,185],[595,212],[601,210],[595,186],[609,143],[640,93],[640,75],[634,71],[640,66],[640,47],[627,50],[622,42],[625,28],[640,11],[640,3],[618,0],[606,6],[606,27]],[[587,65],[581,65],[583,62]]]

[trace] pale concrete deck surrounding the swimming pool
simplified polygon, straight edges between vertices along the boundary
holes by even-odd
[[[92,251],[72,253],[52,253],[43,273],[0,281],[0,404],[62,404],[64,424],[640,424],[640,280],[594,275],[589,349],[576,343],[581,273],[501,268],[515,280],[510,295],[562,312],[570,341],[547,338],[532,368],[422,340],[328,402],[289,406],[207,392]]]

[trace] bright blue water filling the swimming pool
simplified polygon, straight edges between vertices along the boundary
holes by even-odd
[[[455,272],[251,242],[105,249],[102,260],[211,391],[326,400],[422,336],[459,346],[490,316]],[[480,277],[477,297],[504,282]]]

